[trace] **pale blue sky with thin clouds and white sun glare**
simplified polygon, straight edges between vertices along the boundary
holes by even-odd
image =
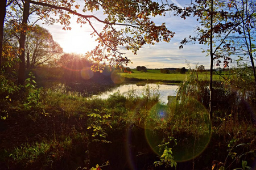
[[[178,6],[185,6],[190,2],[189,0],[172,1]],[[96,13],[94,15],[97,16],[101,14]],[[168,43],[159,42],[155,45],[144,45],[137,55],[134,55],[128,50],[123,50],[122,52],[126,53],[125,56],[133,62],[129,64],[130,67],[146,66],[152,69],[187,67],[189,63],[192,68],[195,67],[195,65],[204,65],[206,69],[209,68],[210,59],[206,57],[206,53],[202,53],[202,49],[207,49],[207,46],[187,44],[183,49],[179,49],[180,41],[184,39],[184,37],[195,35],[195,27],[198,24],[195,18],[191,17],[184,20],[170,13],[166,16],[157,16],[153,18],[153,20],[156,24],[166,23],[167,28],[175,32],[175,36]],[[44,25],[39,22],[38,24],[52,33],[53,39],[60,44],[66,53],[84,54],[97,45],[97,42],[90,36],[92,28],[90,28],[88,24],[80,27],[80,25],[76,23],[76,18],[71,20],[71,31],[64,31],[62,29],[63,26],[59,23]],[[100,31],[100,25],[98,25],[98,29],[98,31]]]

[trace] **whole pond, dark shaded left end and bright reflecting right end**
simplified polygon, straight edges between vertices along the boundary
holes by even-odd
[[[116,92],[127,95],[127,92],[135,92],[140,96],[149,87],[151,91],[158,92],[160,94],[160,100],[167,104],[168,96],[176,96],[177,85],[168,84],[155,84],[155,83],[130,83],[130,84],[98,84],[98,83],[64,83],[64,82],[47,82],[43,84],[43,87],[51,88],[60,92],[79,92],[84,97],[100,97],[101,99],[107,99],[109,95]]]

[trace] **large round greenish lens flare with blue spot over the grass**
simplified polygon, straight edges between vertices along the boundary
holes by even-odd
[[[162,129],[161,129],[162,127]],[[152,107],[145,123],[147,142],[159,156],[163,154],[158,145],[170,142],[172,156],[176,162],[185,162],[201,154],[207,147],[209,131],[208,111],[194,99],[184,103],[177,101],[170,108],[157,104]],[[175,135],[177,145],[168,141],[166,133]],[[171,145],[172,143],[172,145]]]

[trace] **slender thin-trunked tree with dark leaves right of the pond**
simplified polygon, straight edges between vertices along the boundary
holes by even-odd
[[[213,63],[220,66],[220,58],[224,58],[224,67],[228,67],[231,58],[225,51],[232,50],[230,44],[226,41],[236,28],[241,23],[234,23],[231,19],[236,17],[233,12],[228,12],[230,6],[229,1],[213,1],[213,0],[195,0],[191,3],[192,6],[185,8],[185,12],[181,18],[190,16],[192,13],[200,20],[200,26],[197,27],[197,36],[189,36],[189,39],[184,39],[181,44],[186,44],[189,41],[199,41],[199,44],[209,46],[207,50],[210,56],[210,99],[209,99],[209,121],[213,118]],[[189,14],[188,14],[189,13]],[[180,49],[183,45],[180,45]]]

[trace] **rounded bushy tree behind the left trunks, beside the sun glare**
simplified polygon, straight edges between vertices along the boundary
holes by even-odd
[[[8,25],[6,25],[5,42],[7,42],[12,49],[16,49],[16,56],[19,56],[19,35],[15,31],[16,29],[18,28],[11,28],[11,26],[8,27]],[[34,69],[44,63],[49,63],[63,52],[60,45],[53,41],[52,35],[47,29],[35,25],[30,26],[30,29],[26,31],[26,33],[26,69]]]

